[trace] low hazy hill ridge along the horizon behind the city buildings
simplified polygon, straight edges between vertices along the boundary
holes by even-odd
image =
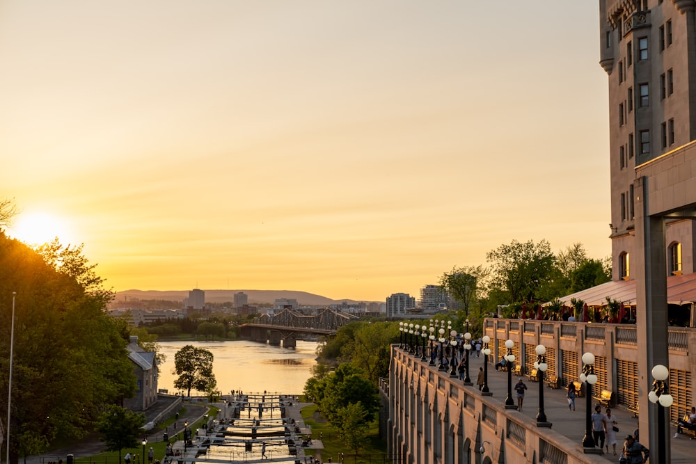
[[[239,291],[248,295],[250,305],[270,303],[273,304],[276,299],[288,298],[294,299],[299,305],[307,306],[329,306],[347,301],[348,303],[358,303],[356,300],[349,298],[345,300],[332,300],[326,296],[310,294],[306,291],[294,290],[205,290],[205,301],[208,303],[225,303],[226,301],[234,301],[235,294]],[[184,298],[189,297],[188,290],[125,290],[116,292],[116,300],[168,300],[168,301],[184,301]],[[370,302],[367,302],[370,303]]]

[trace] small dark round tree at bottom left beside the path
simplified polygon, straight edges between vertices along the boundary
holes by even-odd
[[[118,462],[121,462],[121,450],[138,446],[138,440],[143,434],[145,415],[134,413],[120,406],[112,405],[102,413],[97,422],[96,430],[102,435],[109,451],[118,451]]]

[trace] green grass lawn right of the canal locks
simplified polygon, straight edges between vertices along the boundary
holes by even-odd
[[[365,447],[356,456],[354,450],[348,449],[341,440],[338,439],[336,429],[317,412],[317,405],[302,408],[302,419],[305,425],[312,429],[312,439],[317,440],[321,436],[324,449],[305,449],[306,456],[321,456],[323,463],[328,463],[329,458],[334,463],[340,462],[340,453],[343,454],[345,463],[388,463],[391,462],[386,454],[387,444],[379,439],[378,422],[375,420],[368,431]]]

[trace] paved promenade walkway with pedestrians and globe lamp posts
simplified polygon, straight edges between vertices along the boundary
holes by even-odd
[[[469,363],[471,372],[470,380],[475,384],[476,377],[480,367],[484,365],[484,355],[480,358],[472,357]],[[496,371],[493,364],[489,365],[488,369],[488,386],[493,393],[493,399],[500,399],[501,403],[505,402],[507,397],[507,371]],[[539,412],[539,383],[531,382],[527,376],[522,376],[527,392],[525,394],[523,410],[512,410],[513,415],[518,415],[523,421],[527,422],[530,427],[536,426],[537,413]],[[512,385],[517,383],[519,376],[512,376]],[[473,385],[474,389],[478,389],[477,385]],[[512,390],[513,399],[517,404],[517,399],[514,390]],[[576,410],[568,409],[568,399],[566,390],[562,387],[553,389],[544,384],[544,413],[546,420],[551,422],[552,429],[562,435],[574,440],[582,445],[583,437],[585,436],[585,412],[587,411],[587,397],[576,398]],[[592,408],[597,404],[596,400],[592,400]],[[602,406],[604,412],[605,406]],[[612,408],[612,416],[616,416],[617,427],[617,454],[620,454],[621,448],[624,445],[626,435],[633,433],[638,428],[638,419],[632,417],[632,413],[628,412],[623,406]],[[672,435],[677,431],[676,427],[670,426],[670,445],[672,449],[672,464],[693,464],[696,462],[696,440],[690,440],[690,435],[683,433],[679,438],[672,438]],[[647,447],[647,443],[643,443]],[[609,453],[603,457],[612,463],[618,462],[618,456],[614,456],[612,447],[609,447]],[[649,462],[657,462],[656,456],[652,456]]]

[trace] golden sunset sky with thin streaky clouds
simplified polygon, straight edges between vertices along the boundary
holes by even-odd
[[[8,235],[115,291],[384,301],[513,240],[611,253],[597,2],[3,0],[0,63]]]

